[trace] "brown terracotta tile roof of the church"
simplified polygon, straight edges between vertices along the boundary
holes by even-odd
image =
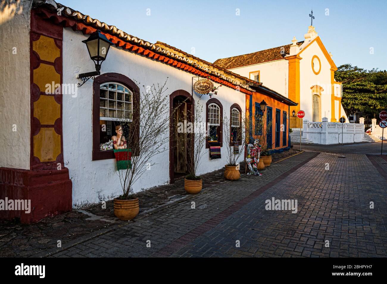
[[[297,43],[297,45],[300,46],[303,43],[303,41],[300,41]],[[228,58],[221,58],[217,59],[214,64],[225,69],[231,69],[274,60],[281,60],[287,54],[289,54],[290,46],[291,44],[287,44],[283,46],[278,46],[276,48],[269,48],[253,53],[232,56]],[[281,53],[281,51],[283,52]]]

